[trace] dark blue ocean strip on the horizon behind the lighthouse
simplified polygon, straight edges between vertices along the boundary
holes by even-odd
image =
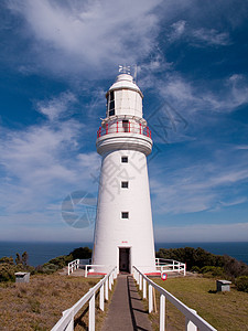
[[[0,243],[0,258],[12,256],[17,253],[28,252],[29,265],[39,266],[60,255],[67,255],[74,248],[88,246],[93,248],[93,243]],[[235,257],[248,265],[248,242],[236,243],[155,243],[155,250],[159,248],[180,248],[180,247],[202,247],[209,253]]]

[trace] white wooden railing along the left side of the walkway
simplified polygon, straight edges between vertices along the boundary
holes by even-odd
[[[106,275],[100,281],[98,281],[89,291],[80,298],[72,308],[63,311],[63,317],[53,327],[51,331],[73,331],[74,330],[74,317],[89,301],[89,318],[88,330],[95,331],[95,298],[96,292],[99,290],[99,308],[105,310],[105,300],[108,300],[108,290],[111,290],[114,279],[117,277],[117,267]]]

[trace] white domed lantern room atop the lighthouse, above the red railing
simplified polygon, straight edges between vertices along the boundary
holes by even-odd
[[[120,74],[106,94],[107,114],[142,118],[143,95],[130,74]]]

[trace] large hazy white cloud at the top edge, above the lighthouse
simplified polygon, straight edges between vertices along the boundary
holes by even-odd
[[[57,74],[84,71],[94,75],[95,71],[106,73],[106,67],[121,62],[141,61],[151,52],[158,30],[154,9],[160,2],[11,0],[7,3],[24,19],[26,30],[22,32],[32,35],[32,54],[42,66]]]

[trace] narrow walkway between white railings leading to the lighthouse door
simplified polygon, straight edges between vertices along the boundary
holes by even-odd
[[[119,275],[101,331],[152,331],[131,275]]]

